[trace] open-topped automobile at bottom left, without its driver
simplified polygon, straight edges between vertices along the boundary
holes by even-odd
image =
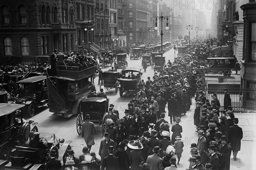
[[[29,139],[33,134],[29,134]],[[72,141],[65,141],[63,138],[56,139],[54,133],[40,133],[40,140],[43,141],[49,149],[29,147],[29,142],[16,147],[16,156],[11,156],[11,161],[7,163],[5,170],[45,170],[45,164],[51,159],[49,153],[55,150],[55,158],[62,160],[68,156],[68,150],[71,149]]]

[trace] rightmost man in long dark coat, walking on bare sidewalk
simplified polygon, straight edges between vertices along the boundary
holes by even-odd
[[[236,161],[236,155],[241,147],[241,139],[243,138],[243,130],[237,124],[239,122],[238,118],[234,118],[234,125],[230,126],[228,130],[228,142],[230,142],[230,146],[233,151],[233,159]]]

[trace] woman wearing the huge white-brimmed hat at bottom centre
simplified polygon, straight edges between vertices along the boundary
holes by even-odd
[[[141,170],[140,163],[143,161],[141,150],[143,149],[143,145],[137,140],[132,140],[129,141],[127,146],[132,149],[129,156],[131,170]]]

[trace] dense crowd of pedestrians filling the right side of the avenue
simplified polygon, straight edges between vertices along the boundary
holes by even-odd
[[[195,100],[194,125],[198,142],[191,144],[187,169],[229,170],[231,153],[236,160],[243,133],[237,125],[239,120],[232,111],[227,89],[224,89],[224,110],[220,110],[217,94],[213,94],[212,99],[205,96],[203,67],[208,55],[208,46],[201,42],[177,57],[174,63],[168,62],[168,68],[159,75],[155,73],[152,79],[142,81],[124,117],[119,118],[119,111],[111,104],[103,118],[106,132],[100,142],[100,158],[93,158],[96,154],[90,153],[96,128],[90,122],[90,115],[86,115],[82,136],[87,147],[83,148],[83,153],[84,157],[93,158],[88,161],[88,168],[177,169],[184,147],[183,128],[179,123]],[[166,121],[166,116],[170,121]],[[82,161],[84,159],[80,159]]]

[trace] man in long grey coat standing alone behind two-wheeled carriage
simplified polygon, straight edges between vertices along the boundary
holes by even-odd
[[[85,122],[82,123],[82,138],[84,138],[84,141],[89,148],[91,149],[92,145],[95,144],[94,142],[94,135],[96,135],[96,128],[94,126],[93,122],[90,122],[90,115],[85,115]]]

